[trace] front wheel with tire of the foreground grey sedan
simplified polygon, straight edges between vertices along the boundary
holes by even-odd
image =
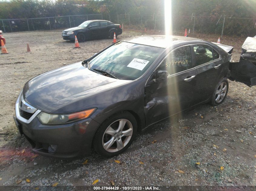
[[[137,121],[129,112],[116,113],[106,119],[93,138],[94,150],[104,157],[125,151],[137,134]]]

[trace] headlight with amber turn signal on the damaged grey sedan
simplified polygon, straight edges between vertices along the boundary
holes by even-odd
[[[49,114],[45,112],[40,112],[37,117],[42,124],[45,125],[61,125],[65,123],[72,123],[82,119],[88,118],[97,108],[92,108],[89,110],[79,111],[75,113],[68,114]]]

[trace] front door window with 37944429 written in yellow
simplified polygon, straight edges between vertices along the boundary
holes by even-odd
[[[170,75],[192,67],[190,46],[184,46],[171,52],[160,64],[158,70],[167,70]]]

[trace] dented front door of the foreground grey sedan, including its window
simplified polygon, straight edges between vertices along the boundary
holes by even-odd
[[[157,82],[157,71],[168,71],[165,81]],[[182,46],[163,59],[145,86],[146,125],[151,125],[191,106],[194,97],[194,69],[191,48]]]

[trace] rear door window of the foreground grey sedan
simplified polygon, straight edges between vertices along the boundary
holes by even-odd
[[[210,46],[203,44],[193,45],[193,49],[196,58],[195,66],[199,66],[213,60],[212,48]]]

